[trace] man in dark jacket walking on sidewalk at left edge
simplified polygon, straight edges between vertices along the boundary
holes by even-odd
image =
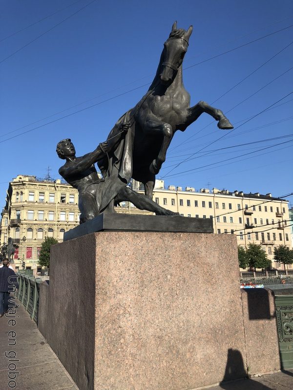
[[[8,312],[8,296],[16,288],[18,288],[17,275],[9,268],[8,259],[4,259],[3,267],[0,268],[0,317]]]

